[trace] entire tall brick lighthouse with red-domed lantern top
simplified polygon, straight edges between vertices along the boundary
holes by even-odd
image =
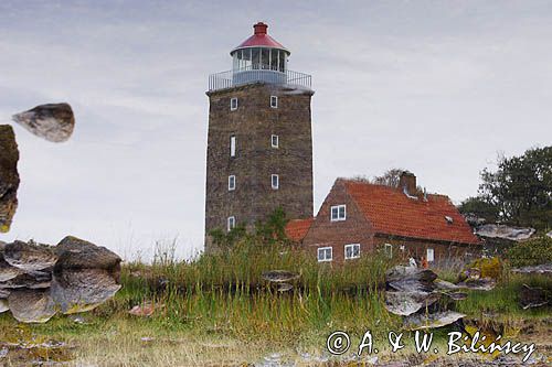
[[[290,52],[265,23],[231,51],[232,71],[209,77],[205,250],[210,233],[252,228],[278,206],[312,217],[310,75],[288,69]]]

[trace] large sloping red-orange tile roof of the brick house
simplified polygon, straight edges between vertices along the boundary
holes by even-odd
[[[423,195],[408,198],[402,191],[384,185],[349,180],[344,185],[376,234],[480,244],[448,196],[427,195],[425,201]]]

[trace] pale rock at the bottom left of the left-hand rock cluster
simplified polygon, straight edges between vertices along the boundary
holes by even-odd
[[[23,323],[45,323],[55,315],[50,290],[14,290],[8,296],[8,306],[13,317]]]

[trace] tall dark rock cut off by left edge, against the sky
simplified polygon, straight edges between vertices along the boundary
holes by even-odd
[[[9,125],[0,125],[0,233],[10,230],[18,208],[19,150]]]

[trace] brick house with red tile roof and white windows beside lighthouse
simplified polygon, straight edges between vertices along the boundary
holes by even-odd
[[[320,262],[343,262],[381,249],[436,263],[481,250],[448,196],[421,193],[408,172],[401,175],[399,188],[338,179],[318,215],[289,222],[286,234]]]

